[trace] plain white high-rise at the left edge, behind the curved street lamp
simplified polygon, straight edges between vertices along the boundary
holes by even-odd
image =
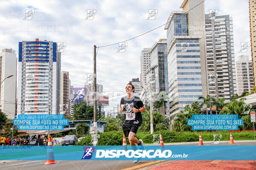
[[[2,82],[0,85],[0,108],[9,119],[15,118],[16,71],[17,57],[15,51],[12,48],[3,49],[0,53],[0,82]],[[11,75],[13,76],[5,79]]]

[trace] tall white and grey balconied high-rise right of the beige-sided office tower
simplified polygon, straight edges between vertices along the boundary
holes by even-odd
[[[209,95],[227,101],[236,94],[233,21],[229,15],[205,15]]]

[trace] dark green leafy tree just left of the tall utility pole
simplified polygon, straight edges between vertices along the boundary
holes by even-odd
[[[86,102],[75,103],[73,109],[73,117],[75,120],[93,120],[93,107],[87,106]]]

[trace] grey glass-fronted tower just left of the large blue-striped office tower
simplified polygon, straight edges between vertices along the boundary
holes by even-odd
[[[151,65],[151,88],[152,97],[155,101],[160,92],[168,94],[168,63],[167,54],[164,54],[167,47],[167,39],[160,39],[155,42],[149,50]],[[169,111],[169,101],[165,105],[165,113]]]

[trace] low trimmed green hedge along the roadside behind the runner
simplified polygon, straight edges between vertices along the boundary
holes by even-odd
[[[154,135],[156,140],[159,139],[158,134],[162,134],[164,143],[172,143],[172,142],[199,142],[199,132],[180,132],[177,133],[175,131],[169,130],[159,130]],[[142,139],[144,143],[152,143],[153,142],[153,134],[147,133],[137,133],[136,137],[138,139]],[[201,132],[203,141],[213,141],[214,134],[221,134],[221,141],[229,141],[230,140],[230,132],[228,131],[216,131],[216,132]],[[105,133],[99,133],[98,145],[122,145],[123,141],[123,132],[111,131]],[[233,132],[233,139],[236,140],[253,140],[254,135],[253,131],[247,132]],[[77,145],[92,145],[91,135],[86,135],[87,138],[82,139]],[[129,144],[128,138],[126,138],[126,143]]]

